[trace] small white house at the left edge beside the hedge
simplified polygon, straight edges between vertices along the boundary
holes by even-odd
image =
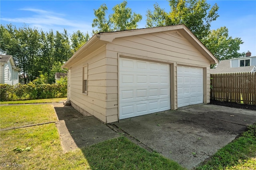
[[[20,70],[15,66],[12,55],[0,55],[0,84],[18,84]]]

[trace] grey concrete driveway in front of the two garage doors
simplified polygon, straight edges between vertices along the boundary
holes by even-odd
[[[256,111],[200,105],[114,123],[147,147],[192,169],[256,122]]]

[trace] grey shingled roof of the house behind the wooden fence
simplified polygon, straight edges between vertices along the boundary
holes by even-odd
[[[237,59],[237,58],[236,58]],[[251,72],[254,69],[254,65],[245,67],[230,67],[231,59],[220,61],[215,69],[210,69],[210,73],[241,73]]]

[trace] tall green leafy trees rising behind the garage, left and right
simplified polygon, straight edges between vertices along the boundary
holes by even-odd
[[[241,38],[228,35],[225,26],[210,30],[211,23],[218,18],[218,5],[212,7],[206,0],[169,0],[170,12],[154,4],[154,11],[147,11],[146,27],[169,26],[184,24],[218,59],[242,57],[238,53]],[[142,15],[132,12],[123,1],[112,8],[113,13],[107,14],[108,7],[102,4],[94,9],[92,21],[93,34],[131,30],[138,27]],[[14,61],[28,76],[30,81],[42,73],[48,83],[54,82],[55,72],[62,72],[61,65],[76,52],[90,36],[80,30],[72,35],[63,32],[44,32],[37,28],[23,26],[16,28],[12,24],[0,26],[0,52],[13,55]]]

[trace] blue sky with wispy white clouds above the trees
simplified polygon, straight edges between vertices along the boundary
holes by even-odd
[[[108,14],[112,7],[120,4],[119,0],[1,0],[0,22],[3,25],[13,24],[17,28],[24,24],[31,28],[37,27],[45,32],[58,30],[63,32],[64,28],[69,34],[80,30],[84,33],[92,33],[92,20],[94,9],[101,4],[108,6]],[[153,10],[153,4],[158,3],[166,11],[170,6],[166,0],[128,0],[128,7],[133,12],[142,15],[139,28],[146,26],[146,11]],[[244,44],[240,45],[239,52],[251,51],[256,55],[256,0],[208,0],[208,3],[218,4],[219,18],[212,22],[211,29],[226,26],[229,36],[241,38]]]

